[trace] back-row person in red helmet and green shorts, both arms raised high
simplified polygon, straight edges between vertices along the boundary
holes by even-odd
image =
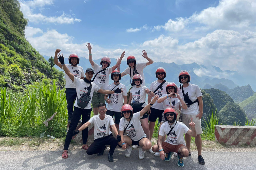
[[[120,64],[121,61],[125,55],[125,51],[121,54],[121,57],[117,59],[116,65],[113,67],[109,67],[111,64],[111,60],[109,57],[105,56],[100,60],[100,65],[96,64],[92,60],[92,47],[90,43],[87,43],[87,48],[89,50],[89,61],[92,65],[92,68],[94,69],[95,76],[92,80],[95,84],[97,84],[101,89],[106,90],[108,86],[108,77],[109,74],[111,74],[112,71],[114,71]],[[99,72],[100,71],[100,72]],[[99,103],[104,103],[104,96],[105,94],[99,93],[99,92],[94,92],[93,97],[92,97],[92,108],[93,108],[93,113],[94,115],[98,114],[98,104]]]

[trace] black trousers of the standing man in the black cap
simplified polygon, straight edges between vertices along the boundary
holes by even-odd
[[[70,141],[73,137],[73,131],[76,130],[76,127],[81,118],[81,115],[82,115],[82,121],[83,121],[82,124],[85,124],[90,120],[91,111],[92,109],[81,109],[78,107],[74,107],[74,113],[72,115],[71,123],[69,125],[69,130],[67,132],[66,139],[65,139],[64,150],[68,150]],[[82,137],[83,144],[86,144],[88,139],[88,128],[85,128],[84,130],[82,130],[82,136],[83,136]]]

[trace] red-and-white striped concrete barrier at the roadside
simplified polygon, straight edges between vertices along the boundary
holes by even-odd
[[[255,145],[256,127],[215,125],[215,141],[227,145]]]

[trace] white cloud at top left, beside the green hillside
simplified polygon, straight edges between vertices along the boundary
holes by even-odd
[[[74,24],[75,22],[81,22],[80,19],[72,18],[70,15],[62,13],[61,16],[45,16],[41,13],[33,13],[33,9],[36,7],[43,7],[46,5],[52,5],[53,0],[34,0],[27,2],[20,2],[20,10],[23,12],[24,17],[29,19],[29,22],[34,23],[54,23],[54,24]]]

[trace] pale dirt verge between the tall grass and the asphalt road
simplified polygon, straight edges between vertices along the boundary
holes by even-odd
[[[157,139],[152,139],[152,145],[156,143]],[[90,144],[90,143],[88,143]],[[226,151],[226,152],[249,152],[256,151],[256,145],[237,145],[228,146],[222,145],[215,141],[203,140],[202,151]],[[14,137],[0,137],[0,151],[10,150],[62,150],[64,146],[64,138],[50,139],[50,138],[14,138]],[[80,150],[81,143],[71,142],[69,149]],[[191,143],[191,150],[196,150],[195,143]]]

